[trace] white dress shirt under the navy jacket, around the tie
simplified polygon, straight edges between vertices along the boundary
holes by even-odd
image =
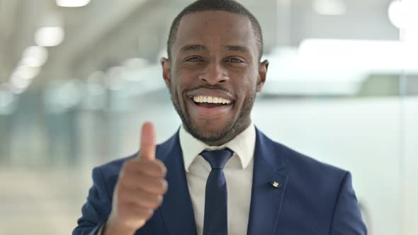
[[[179,138],[198,235],[203,234],[205,187],[206,180],[212,170],[208,161],[199,154],[205,149],[215,150],[225,147],[234,151],[234,155],[227,161],[223,170],[228,193],[228,234],[247,234],[256,142],[254,124],[251,123],[246,130],[220,147],[209,147],[186,132],[183,126],[180,128]]]

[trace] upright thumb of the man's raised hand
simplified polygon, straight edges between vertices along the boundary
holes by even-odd
[[[140,147],[139,159],[149,161],[155,159],[155,127],[151,122],[142,125]]]

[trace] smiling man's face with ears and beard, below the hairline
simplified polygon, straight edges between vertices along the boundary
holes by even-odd
[[[248,127],[268,62],[259,63],[247,17],[224,11],[184,16],[170,60],[162,59],[164,81],[188,132],[220,145]]]

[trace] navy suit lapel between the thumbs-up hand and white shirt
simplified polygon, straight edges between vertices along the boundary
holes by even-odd
[[[160,207],[169,234],[196,235],[196,224],[191,197],[188,192],[186,171],[179,142],[179,132],[157,148],[157,158],[167,168],[169,190]]]

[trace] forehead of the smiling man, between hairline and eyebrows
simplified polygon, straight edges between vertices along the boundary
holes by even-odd
[[[176,54],[184,45],[204,45],[209,49],[237,45],[256,53],[256,39],[249,18],[226,11],[202,11],[184,16],[172,52]]]

